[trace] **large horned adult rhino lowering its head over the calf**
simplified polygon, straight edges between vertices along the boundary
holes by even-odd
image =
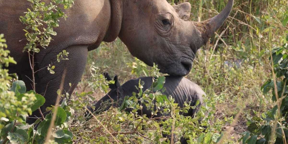
[[[28,54],[22,52],[26,41],[19,16],[24,15],[30,4],[26,0],[0,0],[0,33],[5,34],[8,50],[17,61],[17,65],[9,67],[9,72],[18,73],[28,87],[31,86],[31,69]],[[194,22],[188,21],[191,5],[187,2],[171,6],[166,0],[75,1],[72,9],[66,11],[68,19],[62,20],[56,29],[58,35],[53,37],[54,41],[35,55],[37,70],[54,62],[56,54],[62,50],[70,53],[69,60],[56,63],[54,75],[47,70],[36,73],[36,91],[46,98],[42,110],[54,105],[64,69],[67,70],[64,90],[71,94],[83,74],[88,51],[116,37],[147,65],[155,62],[162,73],[187,75],[197,50],[223,24],[232,5],[233,0],[229,0],[217,16]]]

